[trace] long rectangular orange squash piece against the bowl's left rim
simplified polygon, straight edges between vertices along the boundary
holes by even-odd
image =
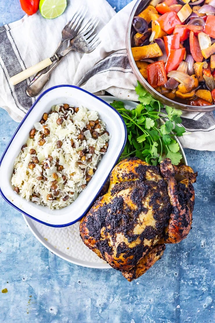
[[[132,47],[132,55],[134,60],[137,61],[144,58],[160,57],[163,53],[158,44],[154,43],[146,46]]]

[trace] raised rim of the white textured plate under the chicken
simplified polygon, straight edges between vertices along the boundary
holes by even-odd
[[[116,97],[112,97],[109,95],[104,95],[101,96],[103,98],[104,101],[106,101],[106,99],[109,101],[117,99]],[[123,102],[125,102],[126,104],[132,104],[136,106],[136,102],[134,101],[128,101],[128,100],[122,100]],[[181,150],[181,155],[183,158],[183,162],[187,165],[187,159],[184,153],[184,150],[181,146],[180,141],[178,140],[177,137],[175,137],[176,141],[178,142],[179,146],[180,146],[180,150]],[[51,251],[54,255],[57,255],[58,257],[62,258],[63,260],[74,264],[74,265],[78,265],[78,266],[82,266],[82,267],[87,267],[87,268],[95,268],[95,269],[112,269],[112,267],[109,264],[97,264],[97,263],[89,263],[86,264],[85,261],[82,260],[78,260],[78,259],[73,259],[71,256],[66,255],[65,253],[59,251],[58,249],[54,248],[48,241],[44,240],[44,237],[42,236],[42,234],[37,230],[37,228],[34,226],[34,220],[29,218],[28,216],[22,214],[25,223],[27,224],[28,228],[30,229],[30,231],[33,233],[33,235],[35,236],[35,238],[42,244],[44,245],[45,248],[47,248],[49,251]]]

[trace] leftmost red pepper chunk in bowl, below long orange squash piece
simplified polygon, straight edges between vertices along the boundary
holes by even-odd
[[[147,66],[147,80],[152,88],[162,86],[167,82],[167,76],[163,61],[151,63]]]

